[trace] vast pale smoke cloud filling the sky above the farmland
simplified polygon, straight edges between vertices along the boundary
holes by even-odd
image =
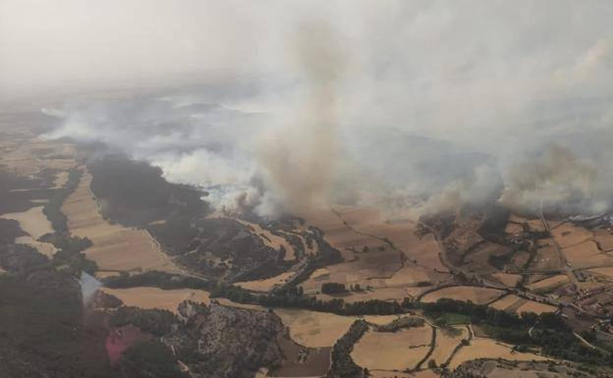
[[[2,2],[2,99],[132,88],[49,107],[48,136],[105,142],[224,208],[613,203],[613,4],[83,3]]]

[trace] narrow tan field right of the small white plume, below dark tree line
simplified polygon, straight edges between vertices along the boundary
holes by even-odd
[[[120,298],[126,306],[136,306],[145,309],[164,309],[177,312],[179,304],[185,300],[208,304],[209,294],[204,290],[173,289],[162,290],[157,287],[131,287],[129,289],[109,289],[103,292]]]

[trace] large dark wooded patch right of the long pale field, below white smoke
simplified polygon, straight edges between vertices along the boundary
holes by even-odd
[[[204,192],[172,184],[159,167],[122,156],[94,159],[88,164],[91,190],[104,216],[127,226],[142,226],[171,216],[201,215],[208,211]]]

